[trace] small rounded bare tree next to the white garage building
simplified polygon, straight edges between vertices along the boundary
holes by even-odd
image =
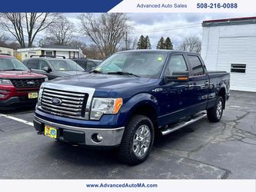
[[[201,40],[196,36],[190,36],[185,38],[179,45],[179,49],[182,51],[192,51],[196,53],[201,52]]]

